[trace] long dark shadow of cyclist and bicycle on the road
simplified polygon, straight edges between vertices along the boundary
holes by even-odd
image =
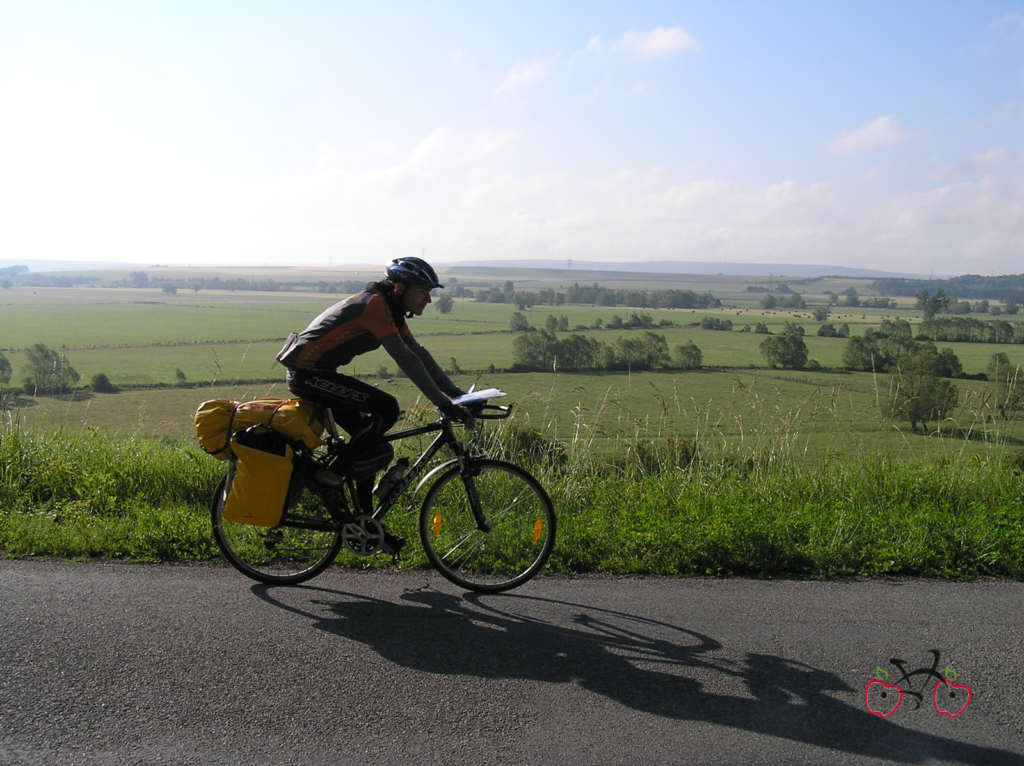
[[[589,604],[520,595],[459,597],[407,591],[401,603],[304,587],[307,611],[254,586],[264,601],[318,630],[357,641],[420,672],[577,683],[634,710],[705,721],[898,763],[936,760],[1020,764],[1021,756],[899,726],[827,692],[852,689],[834,673],[772,654],[728,657],[723,644],[686,628]],[[744,694],[708,691],[722,674]]]

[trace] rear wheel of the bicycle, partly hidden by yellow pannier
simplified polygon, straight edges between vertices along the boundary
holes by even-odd
[[[304,491],[295,508],[279,526],[254,526],[223,518],[225,476],[217,484],[210,506],[213,538],[224,557],[243,574],[272,585],[295,585],[319,574],[341,550],[341,525],[333,523],[319,499]],[[289,524],[289,518],[303,519],[325,528],[313,529]]]

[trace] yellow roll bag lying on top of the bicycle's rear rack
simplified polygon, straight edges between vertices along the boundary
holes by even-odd
[[[254,425],[268,425],[292,441],[310,450],[319,446],[324,433],[323,411],[304,399],[210,399],[193,419],[200,444],[217,460],[231,457],[231,436]]]

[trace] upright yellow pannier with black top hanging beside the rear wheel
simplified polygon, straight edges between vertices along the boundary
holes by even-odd
[[[243,524],[275,526],[288,502],[292,448],[280,433],[257,425],[231,437],[231,453],[221,516]]]

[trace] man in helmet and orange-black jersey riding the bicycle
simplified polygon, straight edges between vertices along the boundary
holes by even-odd
[[[380,346],[431,402],[453,420],[468,422],[472,414],[452,398],[464,391],[444,374],[430,352],[417,343],[406,320],[419,316],[430,303],[430,291],[442,288],[437,273],[422,258],[395,258],[385,279],[367,285],[335,303],[301,333],[292,333],[278,360],[288,368],[292,393],[323,402],[351,436],[343,456],[356,477],[364,512],[371,510],[377,471],[394,456],[383,434],[398,420],[391,394],[337,372],[358,354]]]

